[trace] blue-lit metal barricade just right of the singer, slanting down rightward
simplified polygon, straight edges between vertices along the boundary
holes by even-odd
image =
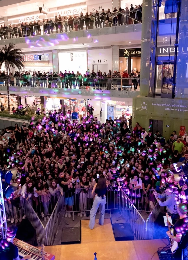
[[[146,222],[123,189],[120,190],[120,212],[130,224],[137,240],[146,239]]]

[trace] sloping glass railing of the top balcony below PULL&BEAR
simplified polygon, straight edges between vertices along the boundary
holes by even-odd
[[[110,15],[104,15],[103,18],[100,18],[99,16],[89,16],[88,18],[76,17],[75,19],[62,20],[58,22],[40,21],[38,24],[32,23],[26,25],[15,24],[12,26],[4,26],[0,28],[0,39],[6,40],[10,38],[68,33],[72,31],[92,30],[114,26],[119,27],[125,25],[141,24],[142,22],[141,10],[123,13],[121,19],[117,18],[118,13],[119,12],[117,12],[117,14],[112,13]]]

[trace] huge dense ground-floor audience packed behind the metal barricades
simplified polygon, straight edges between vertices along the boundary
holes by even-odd
[[[102,123],[93,116],[90,104],[87,110],[91,114],[80,122],[75,112],[70,116],[54,110],[28,127],[15,124],[14,130],[4,130],[1,167],[18,170],[17,190],[5,198],[8,221],[25,218],[24,199],[46,221],[50,198],[57,201],[58,196],[65,196],[65,217],[71,217],[71,211],[80,217],[89,215],[91,192],[100,175],[105,176],[108,191],[117,194],[123,188],[138,209],[143,200],[148,211],[153,209],[158,200],[154,190],[174,190],[179,201],[187,204],[187,184],[179,186],[173,165],[188,159],[187,132],[177,136],[174,131],[166,140],[159,131],[147,132],[138,122],[132,128],[132,116],[128,122],[122,114]],[[173,214],[174,209],[169,212]]]

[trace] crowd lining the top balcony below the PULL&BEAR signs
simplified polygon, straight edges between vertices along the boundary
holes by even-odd
[[[26,37],[34,36],[41,34],[50,34],[50,33],[60,33],[68,32],[75,30],[84,30],[84,24],[86,30],[95,28],[104,28],[109,26],[117,25],[126,25],[126,24],[135,24],[142,22],[142,4],[130,5],[130,9],[126,7],[125,9],[115,7],[112,12],[110,9],[107,11],[95,11],[95,13],[86,12],[84,15],[82,12],[79,15],[70,15],[61,17],[61,15],[55,16],[55,19],[43,19],[33,22],[22,22],[21,24],[10,24],[1,25],[0,27],[0,38],[17,38],[17,37]],[[42,28],[42,30],[41,30]]]

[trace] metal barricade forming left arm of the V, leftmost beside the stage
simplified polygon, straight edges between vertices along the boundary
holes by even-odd
[[[42,224],[36,212],[34,211],[31,203],[26,199],[23,200],[26,217],[28,218],[31,225],[35,228],[37,232],[37,240],[40,242],[41,245],[46,245],[44,225]]]

